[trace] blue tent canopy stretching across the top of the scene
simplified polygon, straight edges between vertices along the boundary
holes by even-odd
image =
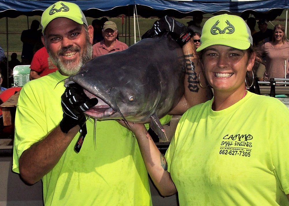
[[[57,0],[2,0],[0,18],[19,15],[41,15]],[[214,14],[220,11],[231,13],[272,13],[289,8],[289,0],[67,0],[79,5],[88,17],[115,17],[120,14],[131,16],[136,6],[138,15],[143,17],[169,15],[175,18],[192,16],[195,11]],[[270,15],[269,15],[270,16]],[[269,19],[270,20],[270,19]]]

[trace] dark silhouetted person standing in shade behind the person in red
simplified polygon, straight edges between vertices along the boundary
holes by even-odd
[[[21,33],[21,42],[23,42],[21,53],[21,64],[29,65],[33,58],[34,44],[39,41],[39,21],[33,20],[30,29],[24,30]]]

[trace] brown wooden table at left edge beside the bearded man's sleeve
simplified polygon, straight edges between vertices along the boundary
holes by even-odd
[[[12,95],[6,102],[0,105],[2,107],[2,112],[3,112],[4,126],[12,125],[12,115],[11,115],[10,109],[16,108],[19,93],[20,92],[17,92],[16,94]]]

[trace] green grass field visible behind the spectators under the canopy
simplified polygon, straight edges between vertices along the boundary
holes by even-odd
[[[277,17],[278,19],[285,19],[285,10],[282,13],[281,16]],[[202,25],[205,23],[205,21],[210,18],[211,16],[213,16],[212,14],[205,14],[204,15],[204,19],[202,22]],[[10,59],[10,55],[13,52],[16,52],[18,54],[18,59],[20,60],[20,56],[21,56],[21,51],[22,51],[22,42],[20,40],[21,37],[21,32],[25,29],[27,29],[27,19],[28,19],[28,25],[30,27],[31,22],[36,19],[38,21],[40,21],[40,16],[29,16],[27,18],[27,16],[18,16],[17,18],[7,18],[8,19],[8,48],[9,48],[9,59]],[[94,18],[87,18],[88,24],[91,24],[92,20]],[[117,18],[108,18],[109,20],[113,21],[116,23],[117,27],[118,27],[118,34],[119,34],[119,40],[122,42],[125,42],[127,45],[132,45],[134,44],[134,19],[133,17],[130,18],[130,34],[131,34],[131,38],[129,41],[129,37],[128,37],[128,27],[127,27],[127,37],[122,37],[122,34],[125,36],[125,22],[122,25],[121,23],[121,17],[117,17]],[[140,31],[138,32],[138,26],[136,24],[136,42],[138,42],[140,40],[139,36],[142,36],[148,29],[150,29],[153,25],[153,23],[157,20],[157,18],[138,18],[138,23],[139,23],[139,29]],[[177,21],[185,24],[186,22],[188,22],[190,19],[190,17],[187,18],[183,18],[183,19],[176,19]],[[281,23],[285,25],[285,20],[280,21],[272,21],[273,25],[277,24],[277,23]],[[128,18],[127,18],[127,25],[128,25]],[[268,28],[273,28],[272,24],[268,24]],[[257,25],[255,27],[257,28]],[[140,33],[140,35],[139,35]],[[6,46],[6,18],[1,18],[0,19],[0,46],[4,49],[5,54],[7,55],[7,46]]]

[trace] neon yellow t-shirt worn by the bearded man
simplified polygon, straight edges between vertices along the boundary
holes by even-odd
[[[64,78],[57,71],[21,89],[15,117],[14,172],[19,173],[22,152],[61,121]],[[94,119],[86,126],[88,134],[80,152],[73,150],[77,134],[58,164],[42,178],[45,205],[152,205],[147,170],[133,133],[114,120],[97,121],[95,133]]]

